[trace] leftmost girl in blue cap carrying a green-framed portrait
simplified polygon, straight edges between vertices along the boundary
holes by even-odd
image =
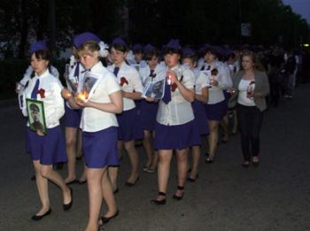
[[[45,42],[35,42],[30,47],[31,66],[35,77],[30,79],[23,93],[22,112],[27,115],[26,99],[32,98],[43,102],[47,134],[42,130],[32,131],[27,125],[27,150],[35,166],[35,181],[43,204],[41,210],[32,217],[43,219],[50,214],[48,182],[52,181],[63,194],[63,209],[69,210],[73,204],[73,190],[66,186],[64,179],[53,170],[53,164],[66,162],[65,142],[59,127],[59,119],[64,115],[64,100],[61,97],[63,88],[60,81],[49,72],[50,51]]]

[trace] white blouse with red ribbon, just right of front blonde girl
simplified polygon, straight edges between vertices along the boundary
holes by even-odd
[[[114,67],[115,65],[109,65],[108,70],[113,73]],[[127,65],[125,62],[120,65],[117,81],[120,84],[120,89],[125,92],[143,92],[140,74],[136,71],[135,67]],[[135,101],[126,97],[123,97],[123,105],[123,111],[128,111],[136,107]]]

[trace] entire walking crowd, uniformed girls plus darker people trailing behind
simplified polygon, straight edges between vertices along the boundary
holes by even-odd
[[[48,181],[62,190],[65,211],[78,201],[70,185],[87,182],[86,231],[98,230],[120,213],[114,194],[119,192],[122,150],[131,166],[125,184],[133,187],[141,172],[136,146],[142,143],[147,157],[143,172],[158,173],[154,205],[166,204],[175,157],[173,198],[180,201],[185,182],[198,180],[201,153],[206,152],[205,163],[214,163],[219,136],[221,142],[228,142],[229,135],[239,132],[241,166],[259,166],[263,113],[268,106],[278,106],[281,98],[293,98],[296,85],[309,81],[303,65],[309,62],[308,55],[278,45],[265,49],[205,43],[194,49],[182,48],[172,39],[159,50],[151,44],[129,47],[120,37],[108,46],[86,32],[74,36],[64,88],[58,70],[50,65],[46,43],[35,42],[30,51],[31,65],[16,91],[20,109],[28,117],[26,147],[42,203],[32,219],[51,213]],[[157,93],[143,95],[146,86],[156,81]],[[65,138],[60,126],[66,127]],[[207,150],[202,150],[205,142]],[[84,172],[77,178],[76,159],[82,155]],[[65,179],[53,168],[64,162]],[[100,216],[103,200],[107,210]]]

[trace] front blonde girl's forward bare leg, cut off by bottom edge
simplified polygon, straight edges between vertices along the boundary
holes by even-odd
[[[89,223],[85,230],[97,231],[98,219],[101,210],[103,191],[102,181],[106,168],[89,168],[87,171],[87,182],[89,188]]]

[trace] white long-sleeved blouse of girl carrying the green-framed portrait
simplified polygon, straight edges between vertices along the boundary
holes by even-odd
[[[38,90],[42,89],[43,94],[37,94],[36,97],[37,100],[43,101],[46,127],[57,127],[59,125],[59,119],[63,117],[65,113],[64,99],[61,96],[61,89],[63,89],[63,86],[58,79],[50,74],[49,70],[46,70],[40,76],[35,73],[35,77],[28,81],[28,86],[23,93],[22,112],[24,116],[28,116],[26,99],[31,98],[31,93],[38,79],[40,80]],[[29,126],[29,124],[27,124],[27,126]]]

